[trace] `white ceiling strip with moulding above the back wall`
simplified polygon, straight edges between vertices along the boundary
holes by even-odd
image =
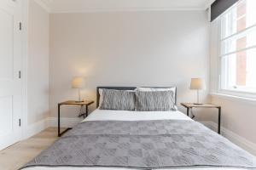
[[[205,10],[214,0],[35,0],[50,13]]]

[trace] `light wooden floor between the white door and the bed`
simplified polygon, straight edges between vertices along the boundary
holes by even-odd
[[[0,170],[17,170],[31,161],[42,150],[49,147],[57,139],[57,128],[49,127],[41,133],[13,144],[0,151]]]

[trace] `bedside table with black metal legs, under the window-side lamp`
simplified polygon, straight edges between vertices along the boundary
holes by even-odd
[[[187,116],[189,116],[189,109],[192,108],[217,108],[218,109],[218,134],[220,134],[220,119],[221,119],[221,106],[220,105],[212,105],[212,104],[202,104],[195,105],[193,103],[181,103],[185,108],[187,108]]]

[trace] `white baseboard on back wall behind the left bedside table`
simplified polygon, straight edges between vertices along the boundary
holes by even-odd
[[[61,118],[61,127],[73,127],[74,125],[78,124],[79,122],[83,121],[82,118]],[[57,117],[48,117],[46,119],[47,127],[58,127],[58,118]]]

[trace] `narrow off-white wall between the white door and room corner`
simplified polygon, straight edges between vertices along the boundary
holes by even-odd
[[[28,125],[49,116],[49,14],[29,0],[27,55]]]

